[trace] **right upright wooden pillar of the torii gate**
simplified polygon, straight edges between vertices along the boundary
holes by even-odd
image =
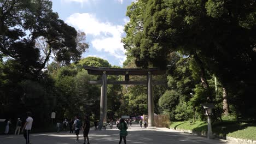
[[[152,75],[148,71],[147,75],[147,85],[148,85],[148,127],[154,127],[154,99],[152,92]]]

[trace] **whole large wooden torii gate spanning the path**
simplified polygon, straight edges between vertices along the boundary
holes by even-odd
[[[152,75],[162,75],[166,71],[157,68],[149,69],[122,69],[122,68],[102,68],[90,67],[84,65],[84,69],[90,75],[102,75],[102,79],[98,81],[89,81],[91,85],[101,85],[101,106],[100,106],[100,121],[107,120],[107,85],[147,85],[148,89],[148,127],[154,127],[154,99],[152,85],[162,85],[165,82],[153,81]],[[124,81],[107,80],[108,75],[124,75]],[[147,75],[147,80],[144,81],[130,81],[130,75]]]

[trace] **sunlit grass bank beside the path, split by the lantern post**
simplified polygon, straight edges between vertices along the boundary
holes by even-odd
[[[207,123],[197,121],[195,124],[185,122],[172,122],[170,128],[193,131],[207,131]],[[225,139],[226,136],[239,139],[256,140],[255,123],[238,123],[236,121],[215,122],[212,124],[212,131],[217,137]]]

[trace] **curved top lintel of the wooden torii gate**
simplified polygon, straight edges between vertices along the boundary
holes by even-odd
[[[133,68],[133,69],[123,69],[123,68],[103,68],[103,67],[91,67],[84,65],[84,69],[88,71],[90,75],[163,75],[166,73],[165,70],[160,70],[158,68]]]

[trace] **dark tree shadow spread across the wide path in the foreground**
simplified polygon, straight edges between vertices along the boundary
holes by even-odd
[[[83,135],[79,135],[80,143],[83,143]],[[119,130],[90,130],[90,143],[112,144],[119,142]],[[179,133],[168,130],[148,130],[140,128],[128,129],[127,143],[225,143],[219,140],[207,140],[205,137],[194,136],[190,134]],[[31,142],[33,144],[69,144],[74,143],[75,135],[69,133],[43,133],[32,134]],[[19,136],[0,136],[1,144],[19,144],[25,143],[24,137]]]

